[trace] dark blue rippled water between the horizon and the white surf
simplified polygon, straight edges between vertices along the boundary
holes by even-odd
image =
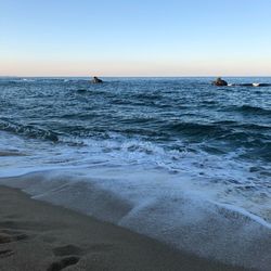
[[[199,143],[209,153],[242,149],[241,159],[270,162],[271,88],[217,88],[210,80],[1,79],[0,130],[56,144],[112,133],[177,151]],[[259,80],[268,78],[243,79]]]

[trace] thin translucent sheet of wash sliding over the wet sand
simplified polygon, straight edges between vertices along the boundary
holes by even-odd
[[[268,222],[155,170],[50,170],[1,182],[203,257],[266,271],[271,266]]]

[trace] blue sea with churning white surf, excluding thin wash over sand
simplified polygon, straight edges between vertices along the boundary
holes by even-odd
[[[1,78],[2,172],[139,166],[270,201],[271,88],[218,88],[211,79]]]

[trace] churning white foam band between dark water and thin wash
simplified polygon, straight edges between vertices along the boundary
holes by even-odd
[[[14,154],[1,156],[0,177],[50,169],[81,170],[90,176],[99,169],[103,177],[105,168],[115,168],[118,178],[126,176],[127,180],[138,182],[132,177],[134,170],[141,175],[155,171],[157,176],[164,176],[164,180],[180,183],[182,189],[198,196],[241,207],[271,222],[271,188],[267,173],[270,166],[261,163],[257,167],[257,160],[254,164],[236,163],[234,156],[242,153],[242,149],[217,156],[191,152],[185,146],[182,151],[165,151],[151,142],[124,140],[115,134],[103,141],[86,139],[82,144],[64,139],[57,144],[24,140],[7,132],[0,132],[0,154]],[[7,147],[9,145],[12,149]],[[132,175],[127,176],[125,172],[129,171]]]

